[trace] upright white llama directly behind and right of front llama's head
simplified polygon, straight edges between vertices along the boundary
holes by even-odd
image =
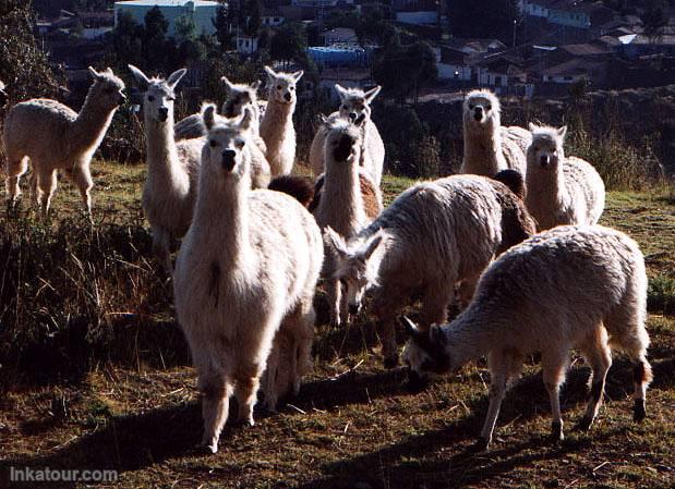
[[[272,175],[288,175],[296,160],[296,129],[293,112],[298,96],[296,85],[303,71],[292,74],[275,72],[265,66],[267,72],[268,100],[265,114],[261,121],[261,137],[267,146],[267,160]]]

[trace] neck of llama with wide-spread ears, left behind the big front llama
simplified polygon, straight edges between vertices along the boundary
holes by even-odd
[[[173,117],[159,123],[146,115],[145,132],[148,178],[159,180],[165,185],[178,185],[186,180],[188,174],[181,170],[173,139]]]

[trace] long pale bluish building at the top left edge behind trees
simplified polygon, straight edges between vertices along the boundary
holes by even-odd
[[[143,24],[145,15],[155,7],[159,8],[166,20],[169,22],[168,35],[176,33],[176,21],[188,15],[194,20],[197,32],[201,34],[213,35],[216,27],[212,22],[216,16],[218,7],[216,1],[206,0],[129,0],[114,2],[114,25],[118,23],[119,15],[130,14],[133,20]]]

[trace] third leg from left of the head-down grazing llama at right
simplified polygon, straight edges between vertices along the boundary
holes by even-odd
[[[590,392],[586,413],[579,421],[579,429],[586,431],[592,425],[598,409],[602,403],[602,395],[605,388],[605,378],[612,366],[612,353],[607,344],[607,330],[599,326],[587,344],[582,347],[583,355],[591,366],[591,377],[589,379]]]

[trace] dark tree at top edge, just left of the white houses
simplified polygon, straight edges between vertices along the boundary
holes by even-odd
[[[516,0],[446,0],[450,32],[457,37],[497,38],[510,45],[514,21],[520,13]]]

